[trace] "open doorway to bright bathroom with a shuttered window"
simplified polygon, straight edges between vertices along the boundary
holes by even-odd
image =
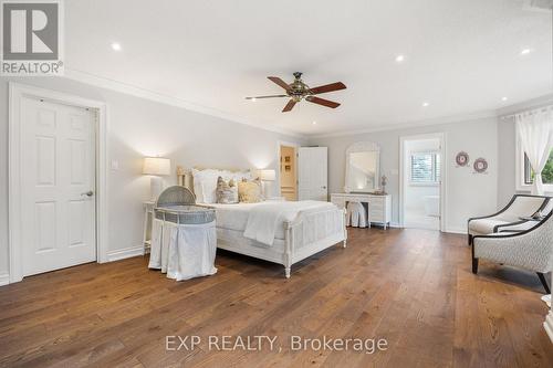
[[[442,230],[442,134],[403,137],[400,155],[403,225]]]

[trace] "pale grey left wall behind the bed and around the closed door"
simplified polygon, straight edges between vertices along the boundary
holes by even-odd
[[[0,78],[0,275],[8,259],[8,82],[105,101],[108,104],[108,156],[118,161],[111,171],[109,251],[142,244],[142,201],[149,197],[149,179],[140,175],[144,156],[171,158],[173,169],[211,166],[278,169],[276,143],[299,139],[202,115],[70,80]],[[176,176],[168,178],[176,183]]]

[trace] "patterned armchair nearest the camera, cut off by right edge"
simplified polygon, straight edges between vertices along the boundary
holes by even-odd
[[[478,273],[478,260],[526,269],[538,273],[545,292],[550,287],[544,273],[553,271],[553,212],[536,225],[518,233],[476,235],[472,244],[472,273]]]

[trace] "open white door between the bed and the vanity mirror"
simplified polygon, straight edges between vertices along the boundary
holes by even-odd
[[[328,200],[328,148],[298,149],[299,200]]]

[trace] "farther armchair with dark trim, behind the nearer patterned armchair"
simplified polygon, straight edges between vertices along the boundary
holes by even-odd
[[[499,212],[469,219],[467,221],[469,245],[476,235],[488,235],[513,225],[522,225],[521,228],[525,229],[529,227],[525,224],[528,221],[521,220],[521,217],[533,217],[543,211],[549,202],[550,197],[545,196],[514,194]]]

